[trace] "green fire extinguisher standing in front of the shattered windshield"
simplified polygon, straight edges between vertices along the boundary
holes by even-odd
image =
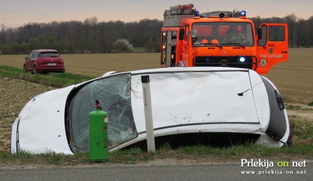
[[[104,162],[108,160],[108,113],[100,108],[96,100],[95,111],[89,113],[89,160]]]

